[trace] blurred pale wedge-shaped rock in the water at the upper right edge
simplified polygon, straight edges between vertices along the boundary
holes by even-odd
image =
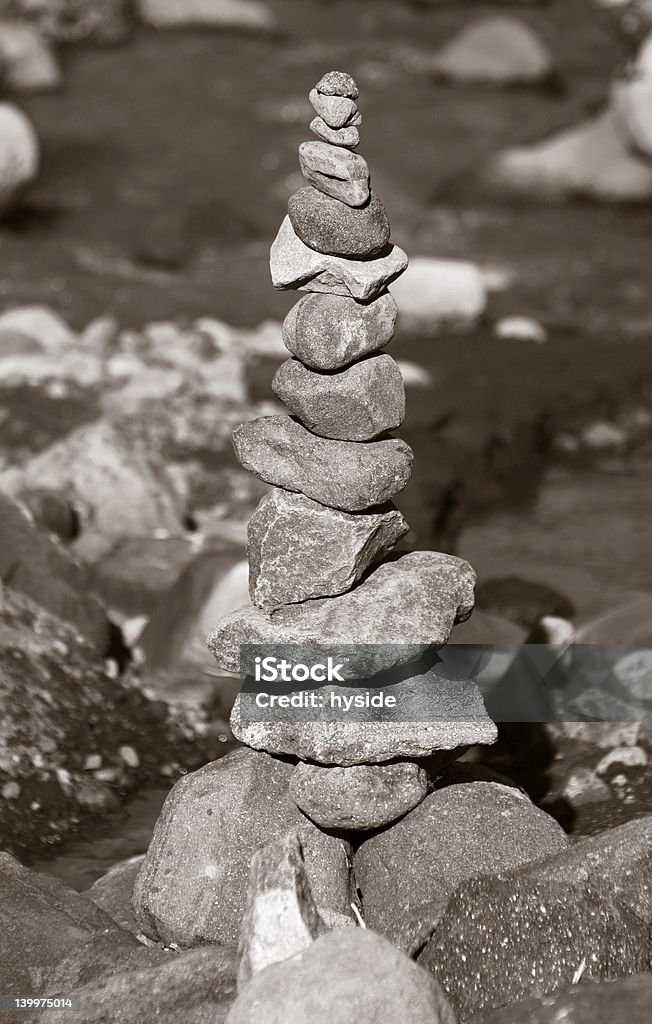
[[[652,199],[652,167],[628,152],[611,108],[542,142],[505,150],[489,165],[485,179],[508,193],[549,200]]]

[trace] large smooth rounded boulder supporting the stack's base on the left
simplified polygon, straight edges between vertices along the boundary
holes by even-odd
[[[289,795],[294,766],[238,750],[179,779],[134,887],[145,935],[180,946],[235,945],[256,850],[298,828],[317,905],[348,912],[346,844],[319,831]]]

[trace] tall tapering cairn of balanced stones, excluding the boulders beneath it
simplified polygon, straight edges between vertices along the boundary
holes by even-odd
[[[222,622],[209,646],[229,670],[242,669],[244,644],[300,644],[315,656],[331,648],[362,678],[415,664],[393,687],[400,711],[440,707],[439,716],[250,721],[244,693],[233,708],[244,743],[300,759],[291,793],[313,821],[367,829],[423,800],[427,774],[415,759],[452,760],[470,743],[492,742],[495,728],[472,683],[417,664],[471,613],[473,569],[435,552],[388,558],[408,529],[392,499],[410,477],[412,453],[390,433],[405,392],[383,351],[397,316],[388,285],[407,257],[391,244],[367,164],[353,152],[357,98],[343,72],[310,93],[317,140],[299,147],[308,184],[290,199],[270,260],[275,288],[306,293],[284,324],[292,358],[272,382],[292,415],[233,433],[240,462],[274,489],[249,524],[251,605]]]

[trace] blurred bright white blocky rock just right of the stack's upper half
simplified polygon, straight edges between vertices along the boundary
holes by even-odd
[[[410,259],[391,293],[407,327],[469,327],[482,316],[487,301],[484,275],[475,263],[428,256]]]

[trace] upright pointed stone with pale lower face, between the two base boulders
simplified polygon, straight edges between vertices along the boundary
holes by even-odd
[[[295,956],[329,929],[319,916],[297,831],[252,857],[240,940],[237,987],[270,964]]]

